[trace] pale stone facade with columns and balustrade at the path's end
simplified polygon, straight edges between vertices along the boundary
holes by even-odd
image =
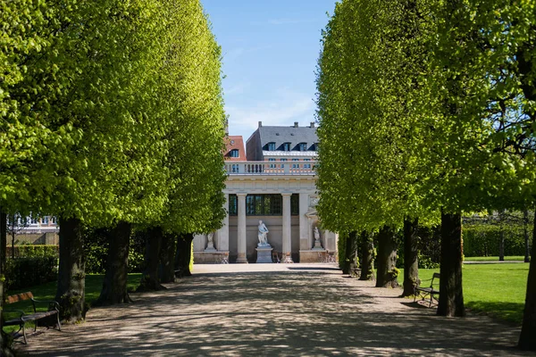
[[[222,228],[214,232],[214,252],[207,251],[207,235],[194,239],[194,262],[255,262],[259,220],[270,230],[268,243],[273,251],[293,262],[319,262],[322,253],[337,250],[337,235],[323,230],[316,216],[318,202],[314,162],[286,162],[286,167],[272,162],[232,162],[240,170],[231,170],[223,191],[229,212],[229,196],[237,195],[237,215],[228,215]],[[292,163],[293,165],[289,165]],[[226,166],[230,166],[230,162]],[[313,165],[311,165],[313,164]],[[281,215],[247,215],[247,195],[281,195]],[[298,214],[291,214],[291,195],[298,195]],[[297,212],[295,212],[297,213]],[[314,228],[319,228],[322,249],[314,248]]]

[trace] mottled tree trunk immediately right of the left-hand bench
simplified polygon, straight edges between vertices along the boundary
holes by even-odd
[[[86,318],[86,259],[82,222],[60,217],[60,266],[55,300],[68,323]]]

